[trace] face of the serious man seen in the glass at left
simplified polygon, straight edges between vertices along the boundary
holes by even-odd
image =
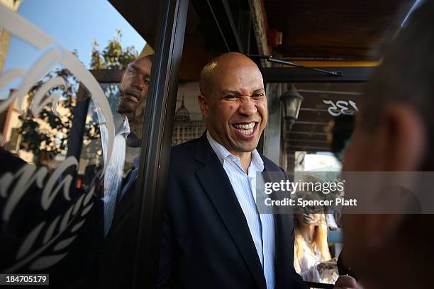
[[[150,56],[140,57],[128,64],[121,82],[118,113],[134,113],[136,109],[143,107],[148,94],[151,67]]]

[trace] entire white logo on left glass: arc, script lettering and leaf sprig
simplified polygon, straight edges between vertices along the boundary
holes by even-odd
[[[23,238],[23,242],[16,253],[16,263],[6,268],[3,273],[13,273],[23,266],[28,266],[30,270],[43,270],[63,259],[69,251],[66,249],[77,237],[79,228],[85,222],[85,216],[94,205],[92,195],[95,191],[95,183],[101,176],[111,159],[114,140],[114,122],[113,115],[104,96],[98,81],[92,74],[79,62],[77,57],[72,55],[65,47],[58,44],[53,38],[34,26],[18,13],[0,4],[0,28],[8,30],[12,35],[21,38],[28,44],[43,50],[43,55],[30,67],[30,69],[14,68],[0,76],[0,91],[11,83],[11,81],[21,81],[18,88],[11,93],[9,98],[0,103],[0,113],[6,111],[15,100],[18,110],[21,112],[22,104],[26,94],[31,87],[40,81],[48,72],[57,66],[65,67],[75,77],[81,81],[91,94],[96,106],[101,109],[101,115],[104,116],[104,122],[108,133],[107,137],[107,162],[100,174],[95,176],[89,191],[81,196],[74,198],[72,202],[69,196],[72,186],[72,176],[66,174],[67,169],[74,168],[77,170],[78,162],[75,157],[67,157],[62,164],[48,178],[48,169],[41,166],[37,169],[32,164],[26,164],[14,174],[7,172],[0,179],[0,198],[5,198],[4,210],[1,212],[1,219],[7,222],[13,211],[17,208],[23,196],[28,193],[29,188],[42,190],[40,206],[43,210],[49,210],[53,200],[62,190],[65,200],[69,201],[65,212],[60,212],[53,220],[41,220],[38,225],[30,229],[28,235]],[[48,95],[48,92],[55,88],[66,89],[67,84],[62,77],[55,77],[46,81],[32,99],[31,111],[37,115],[47,104],[52,104],[55,112],[57,103],[60,101],[59,94]],[[48,181],[45,179],[48,178]],[[31,193],[31,192],[30,192]],[[40,242],[36,242],[40,240]]]

